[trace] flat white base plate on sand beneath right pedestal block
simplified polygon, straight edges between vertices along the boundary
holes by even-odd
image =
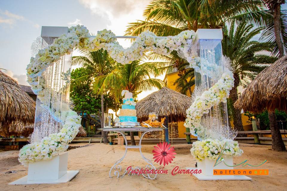
[[[192,168],[192,167],[185,167],[186,169],[197,169],[197,168]],[[199,170],[199,169],[198,169]],[[200,174],[192,174],[199,180],[252,180],[252,178],[245,176],[245,175],[211,175],[207,176],[204,175],[203,173]]]

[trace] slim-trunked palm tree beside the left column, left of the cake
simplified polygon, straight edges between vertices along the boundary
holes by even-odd
[[[94,80],[100,76],[106,76],[109,74],[115,67],[115,61],[109,56],[106,50],[97,50],[94,52],[89,52],[86,50],[81,50],[81,53],[84,56],[73,56],[72,65],[80,65],[86,69],[88,69],[88,74],[82,76],[74,81],[80,85],[81,81],[88,77],[94,78]],[[101,126],[104,126],[104,93],[105,89],[94,89],[95,93],[99,93],[101,95],[101,112],[99,112]],[[102,130],[102,137],[104,143],[109,143],[107,135]]]

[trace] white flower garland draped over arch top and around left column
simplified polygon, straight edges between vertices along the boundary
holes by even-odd
[[[177,36],[156,38],[154,33],[146,31],[141,33],[128,49],[120,46],[116,41],[115,34],[110,30],[99,31],[94,38],[89,38],[89,36],[86,27],[80,25],[71,27],[67,35],[64,34],[54,39],[51,45],[40,50],[35,57],[30,59],[30,64],[27,66],[27,81],[39,100],[43,100],[45,88],[45,82],[42,78],[40,78],[41,81],[38,81],[39,77],[49,65],[58,61],[61,56],[70,54],[74,48],[88,51],[103,48],[109,52],[113,59],[122,64],[131,63],[144,56],[144,53],[148,51],[168,55],[171,51],[179,49],[184,50],[188,60],[192,60],[187,51],[193,44],[195,33],[187,30]],[[56,113],[52,115],[59,117]],[[24,146],[19,153],[19,162],[28,164],[33,161],[50,159],[52,156],[67,150],[68,143],[74,139],[79,131],[80,120],[81,118],[76,112],[72,110],[62,111],[59,121],[63,121],[63,127],[60,132],[43,138],[41,142]]]

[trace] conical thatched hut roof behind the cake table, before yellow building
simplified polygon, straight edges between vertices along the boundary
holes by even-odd
[[[167,115],[169,121],[176,122],[185,121],[186,110],[191,104],[190,97],[163,87],[138,101],[135,109],[137,110],[138,121],[146,120],[150,112],[155,112],[159,118]]]

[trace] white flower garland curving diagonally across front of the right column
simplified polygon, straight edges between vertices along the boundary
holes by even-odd
[[[205,137],[204,128],[201,126],[201,117],[209,113],[211,107],[220,102],[226,103],[229,92],[234,86],[232,72],[227,70],[222,77],[209,90],[204,91],[201,96],[195,98],[190,108],[186,110],[187,118],[184,126],[190,128],[190,133],[201,138]]]

